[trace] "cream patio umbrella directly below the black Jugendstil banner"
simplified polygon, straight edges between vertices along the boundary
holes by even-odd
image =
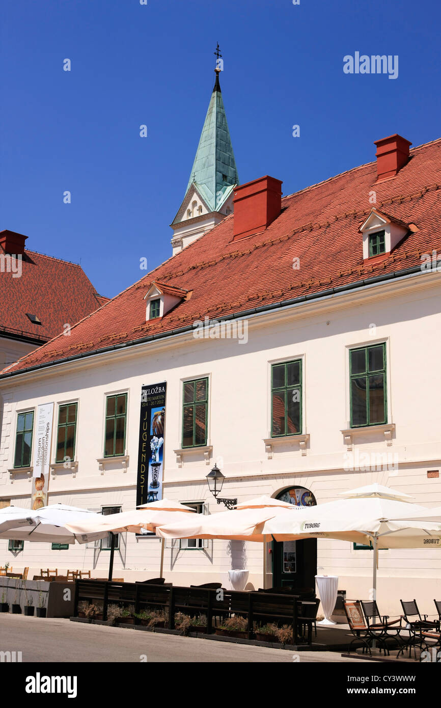
[[[110,547],[110,564],[109,564],[109,580],[112,579],[113,573],[113,554],[115,552],[115,534],[128,531],[130,533],[146,533],[156,530],[156,526],[166,524],[173,520],[185,520],[190,513],[195,513],[195,509],[190,506],[185,506],[179,502],[161,499],[153,501],[149,504],[142,505],[141,508],[132,511],[122,511],[118,514],[109,514],[100,516],[98,520],[88,519],[79,520],[78,523],[69,525],[69,529],[77,535],[86,535],[99,531],[105,531],[112,535],[112,544]],[[161,542],[161,569],[160,577],[164,571],[164,544],[165,539]]]

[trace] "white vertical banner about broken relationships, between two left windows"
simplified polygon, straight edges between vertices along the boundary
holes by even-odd
[[[30,508],[35,511],[47,505],[53,413],[53,403],[37,406],[35,416],[34,471],[32,496],[30,498]]]

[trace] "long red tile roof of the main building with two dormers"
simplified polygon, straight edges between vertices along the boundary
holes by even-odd
[[[418,229],[389,256],[364,263],[358,229],[373,206]],[[411,159],[394,177],[377,182],[377,164],[371,162],[285,197],[280,216],[260,234],[233,242],[233,219],[226,217],[88,315],[71,336],[55,338],[7,372],[171,332],[205,315],[221,319],[418,267],[422,253],[441,251],[441,138],[412,149]],[[292,268],[295,257],[299,270]],[[143,298],[152,280],[193,290],[193,295],[163,318],[146,323]]]

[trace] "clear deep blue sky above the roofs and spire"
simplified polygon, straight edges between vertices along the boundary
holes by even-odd
[[[3,0],[0,229],[113,296],[171,256],[217,41],[241,183],[290,194],[391,133],[440,137],[440,20],[439,0]],[[399,55],[398,78],[344,74],[355,51]]]

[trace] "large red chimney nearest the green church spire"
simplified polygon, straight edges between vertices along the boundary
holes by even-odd
[[[282,210],[282,182],[260,177],[234,190],[234,239],[257,234],[274,221]]]

